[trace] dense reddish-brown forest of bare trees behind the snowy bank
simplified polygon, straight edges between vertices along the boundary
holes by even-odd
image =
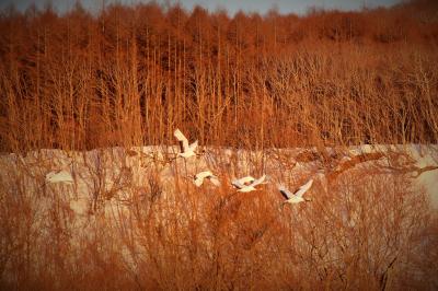
[[[438,5],[0,16],[0,150],[437,142]]]

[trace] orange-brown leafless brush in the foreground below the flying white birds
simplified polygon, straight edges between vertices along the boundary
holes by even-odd
[[[405,174],[354,168],[284,208],[269,185],[237,194],[151,170],[142,187],[117,183],[83,216],[59,196],[72,186],[2,183],[2,288],[436,288],[436,213]]]

